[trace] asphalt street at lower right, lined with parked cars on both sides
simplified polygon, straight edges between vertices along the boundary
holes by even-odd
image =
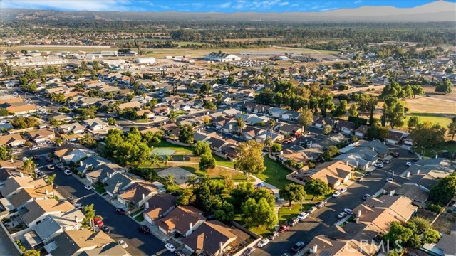
[[[400,157],[392,159],[390,164],[387,164],[383,169],[376,169],[371,176],[365,177],[361,183],[353,183],[348,187],[348,191],[343,193],[339,198],[331,198],[325,207],[316,210],[311,216],[306,218],[303,223],[299,223],[291,227],[288,231],[281,233],[278,238],[272,240],[269,245],[263,248],[257,248],[253,255],[282,255],[283,253],[291,252],[296,242],[303,241],[308,244],[315,236],[321,235],[323,230],[335,224],[339,219],[338,213],[343,209],[353,209],[363,202],[361,198],[366,193],[373,195],[379,191],[386,183],[386,178],[395,174],[401,174],[408,167],[405,163],[415,156],[408,153],[408,150],[392,147],[392,151],[399,152]],[[391,170],[391,171],[390,171]],[[279,223],[281,224],[281,223]]]

